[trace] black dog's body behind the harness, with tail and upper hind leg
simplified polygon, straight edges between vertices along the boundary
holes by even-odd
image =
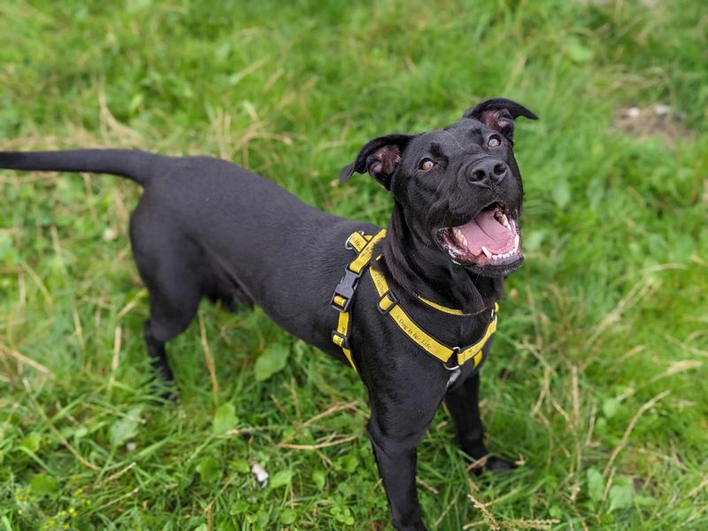
[[[258,304],[290,333],[334,350],[329,298],[348,256],[343,242],[370,224],[320,212],[219,158],[139,150],[0,152],[0,167],[111,173],[142,186],[130,239],[150,291],[149,350],[155,342],[163,351],[164,342],[188,327],[203,296],[231,308]]]

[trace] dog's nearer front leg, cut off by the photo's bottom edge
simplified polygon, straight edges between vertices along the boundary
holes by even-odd
[[[427,424],[405,435],[394,435],[396,432],[391,431],[391,422],[387,421],[387,417],[372,414],[367,431],[383,489],[389,498],[391,523],[399,531],[424,530],[426,527],[420,512],[415,472],[416,446]],[[396,419],[396,423],[398,421],[400,419]]]

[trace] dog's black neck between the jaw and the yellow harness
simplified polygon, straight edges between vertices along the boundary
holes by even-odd
[[[405,219],[397,202],[383,242],[384,266],[395,295],[416,295],[463,312],[480,312],[502,296],[504,280],[483,277],[452,262]]]

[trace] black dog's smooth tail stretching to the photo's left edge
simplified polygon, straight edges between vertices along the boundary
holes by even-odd
[[[145,186],[160,158],[160,155],[138,150],[0,151],[0,168],[111,173]]]

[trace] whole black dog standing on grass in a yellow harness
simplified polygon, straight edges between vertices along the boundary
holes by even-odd
[[[142,186],[130,239],[150,292],[145,341],[165,379],[173,379],[165,342],[189,326],[203,296],[258,304],[291,334],[342,361],[350,357],[369,391],[367,431],[393,525],[424,529],[416,445],[443,399],[462,449],[473,459],[487,456],[477,369],[489,351],[504,276],[523,259],[522,187],[512,153],[519,116],[536,118],[510,100],[491,99],[450,127],[368,142],[342,181],[368,172],[394,198],[388,234],[371,242],[364,235],[379,227],[319,212],[215,158],[2,152],[0,167],[112,173]],[[358,231],[363,235],[350,239]],[[371,260],[352,264],[342,279],[362,247],[359,256]],[[363,275],[367,266],[371,278]],[[441,359],[435,342],[452,345],[441,347]],[[471,363],[463,363],[466,356]],[[486,467],[511,464],[489,458]]]

